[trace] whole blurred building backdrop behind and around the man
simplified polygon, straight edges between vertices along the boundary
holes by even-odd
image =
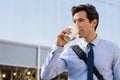
[[[71,7],[84,3],[99,13],[98,36],[120,46],[120,0],[0,0],[0,80],[40,80],[57,33],[72,24]]]

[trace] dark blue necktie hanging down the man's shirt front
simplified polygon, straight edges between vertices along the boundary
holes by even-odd
[[[92,46],[94,46],[92,43],[88,43],[89,46],[89,52],[88,52],[88,74],[87,74],[87,80],[93,80],[93,64],[94,64],[94,54]]]

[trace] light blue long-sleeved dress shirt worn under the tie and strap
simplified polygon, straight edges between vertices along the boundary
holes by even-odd
[[[92,42],[94,65],[104,77],[104,80],[120,80],[120,48],[99,37]],[[88,53],[87,42],[81,40],[78,44]],[[60,73],[68,71],[68,80],[87,80],[87,65],[80,60],[70,48],[53,46],[41,69],[42,80],[50,80]],[[93,76],[94,80],[98,80]]]

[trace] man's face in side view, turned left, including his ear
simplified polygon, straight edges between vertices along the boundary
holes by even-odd
[[[85,11],[75,13],[73,21],[79,28],[79,37],[87,38],[94,32],[94,20],[90,23]]]

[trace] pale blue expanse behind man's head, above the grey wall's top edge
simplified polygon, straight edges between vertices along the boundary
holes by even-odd
[[[80,3],[96,6],[98,35],[120,45],[119,0],[0,0],[0,39],[51,46],[72,23],[71,7]]]

